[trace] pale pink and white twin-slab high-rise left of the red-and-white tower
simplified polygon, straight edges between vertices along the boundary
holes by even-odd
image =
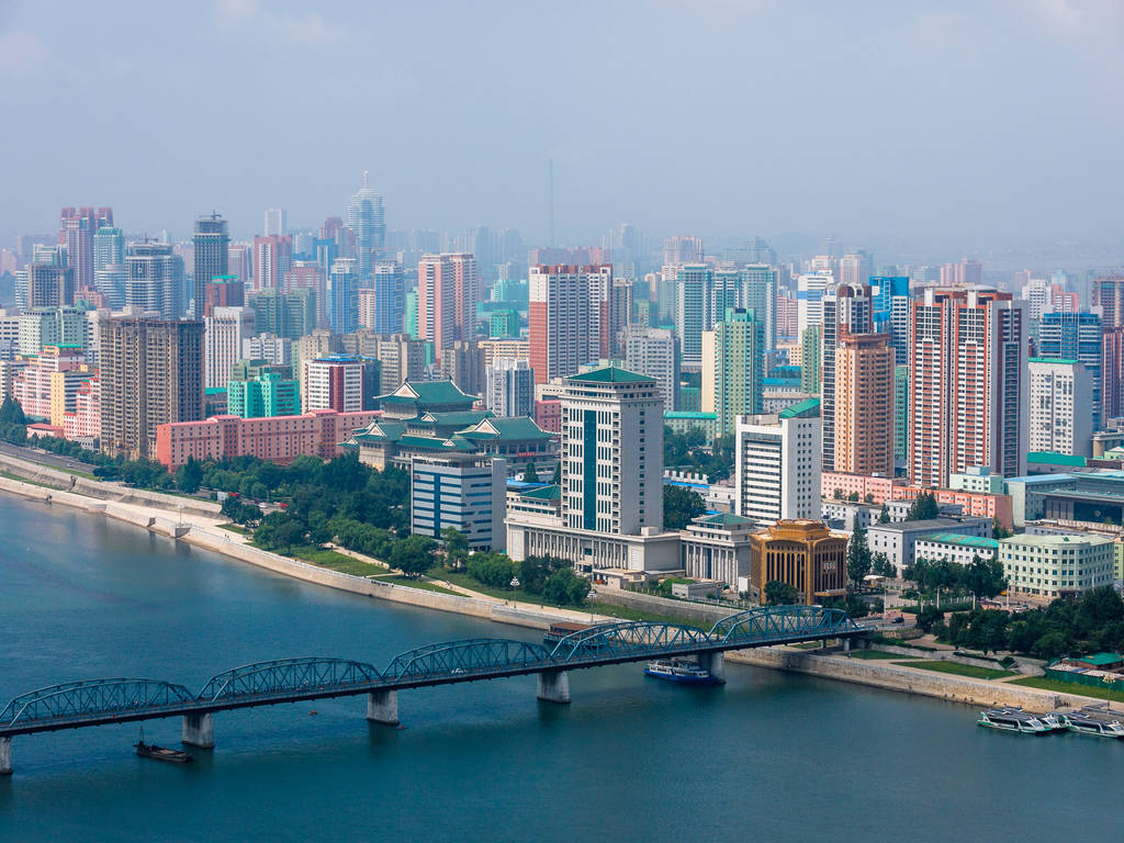
[[[474,255],[422,255],[418,338],[432,342],[436,351],[451,347],[457,339],[474,339],[478,283]]]

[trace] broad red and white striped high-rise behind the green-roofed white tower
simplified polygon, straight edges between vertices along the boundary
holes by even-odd
[[[611,280],[610,264],[531,268],[528,341],[536,383],[577,374],[598,360],[600,296]]]

